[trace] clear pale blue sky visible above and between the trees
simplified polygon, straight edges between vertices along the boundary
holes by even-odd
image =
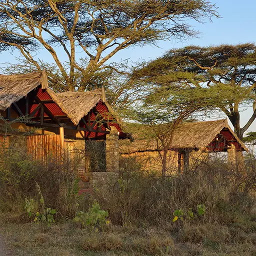
[[[205,20],[204,24],[193,22],[194,28],[200,31],[200,38],[192,38],[186,41],[159,41],[156,46],[130,47],[115,54],[111,61],[119,62],[121,59],[129,58],[131,61],[150,60],[162,55],[170,48],[182,47],[189,44],[195,45],[215,45],[221,43],[243,43],[256,42],[256,1],[254,0],[213,0],[218,6],[218,12],[222,18],[214,18],[212,22]],[[14,62],[14,55],[9,53],[0,54],[0,63]],[[38,54],[44,61],[52,61],[50,57],[43,53]],[[252,110],[247,109],[241,114],[241,124],[249,118]],[[256,121],[253,122],[249,130],[256,131]]]

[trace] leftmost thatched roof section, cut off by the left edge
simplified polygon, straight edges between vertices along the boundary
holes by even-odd
[[[0,75],[0,110],[10,107],[38,85],[47,86],[43,76],[44,72]]]

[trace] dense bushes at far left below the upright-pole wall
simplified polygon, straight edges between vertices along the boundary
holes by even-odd
[[[78,180],[72,169],[59,163],[33,160],[18,148],[1,150],[0,159],[0,211],[16,212],[18,208],[21,216],[25,198],[40,200],[38,184],[46,208],[57,209],[58,218],[75,215]]]

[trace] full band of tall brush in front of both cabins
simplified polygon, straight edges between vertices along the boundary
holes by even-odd
[[[93,200],[109,213],[116,225],[173,225],[174,210],[184,215],[197,205],[206,211],[200,221],[222,224],[234,222],[254,210],[256,165],[247,159],[240,171],[224,161],[200,163],[193,170],[171,177],[158,177],[141,171],[134,162],[125,163],[116,182],[97,183],[90,194],[78,195],[79,185],[74,164],[45,163],[32,160],[19,149],[0,152],[0,211],[18,212],[15,218],[26,220],[24,198],[39,200],[36,183],[47,207],[57,210],[57,219],[72,219],[78,210],[86,211]],[[194,218],[191,221],[197,221]],[[178,220],[175,225],[182,225]]]

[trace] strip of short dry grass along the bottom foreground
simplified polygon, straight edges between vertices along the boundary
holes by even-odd
[[[174,226],[175,224],[173,224]],[[185,223],[175,231],[110,226],[103,232],[75,228],[71,222],[3,224],[7,247],[14,255],[244,255],[256,254],[255,222]]]

